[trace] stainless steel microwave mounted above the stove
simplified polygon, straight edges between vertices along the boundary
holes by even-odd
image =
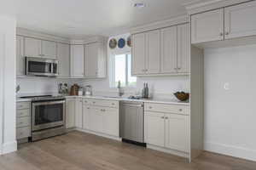
[[[58,76],[58,60],[25,57],[26,75],[38,77]]]

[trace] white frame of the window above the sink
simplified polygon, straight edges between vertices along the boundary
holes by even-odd
[[[128,54],[131,54],[131,51],[127,51],[124,53],[114,53],[110,54],[109,59],[109,87],[110,88],[117,88],[115,85],[115,56],[125,54],[125,87],[122,88],[136,88],[136,85],[129,85],[128,84]]]

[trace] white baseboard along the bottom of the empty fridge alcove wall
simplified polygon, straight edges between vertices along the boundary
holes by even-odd
[[[223,154],[226,156],[233,156],[250,161],[256,161],[256,150],[237,147],[234,145],[205,142],[204,150]]]

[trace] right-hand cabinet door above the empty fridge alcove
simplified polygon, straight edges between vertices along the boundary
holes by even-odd
[[[224,8],[225,39],[256,35],[256,2]]]

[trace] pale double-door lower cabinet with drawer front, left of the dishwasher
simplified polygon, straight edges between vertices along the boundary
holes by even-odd
[[[93,100],[93,99],[92,99]],[[112,107],[111,101],[97,100],[95,105],[90,99],[84,99],[83,128],[96,133],[104,133],[111,136],[119,136],[119,107]],[[102,106],[109,102],[109,107]]]

